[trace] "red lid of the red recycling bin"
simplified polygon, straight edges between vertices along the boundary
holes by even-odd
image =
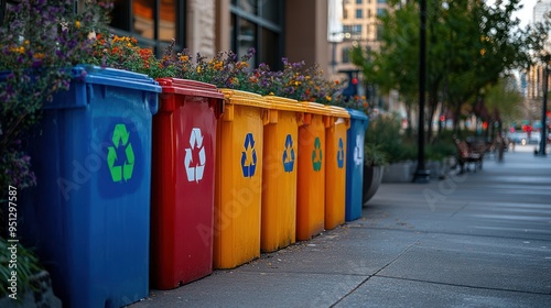
[[[224,94],[212,84],[181,78],[158,78],[156,81],[163,94],[224,99]]]

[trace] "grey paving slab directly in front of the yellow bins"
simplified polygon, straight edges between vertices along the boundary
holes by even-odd
[[[348,227],[266,254],[238,271],[372,275],[406,252],[423,234]]]

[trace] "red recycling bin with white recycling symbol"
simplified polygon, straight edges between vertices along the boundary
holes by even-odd
[[[224,95],[176,78],[153,117],[151,287],[175,288],[213,272],[216,122]]]

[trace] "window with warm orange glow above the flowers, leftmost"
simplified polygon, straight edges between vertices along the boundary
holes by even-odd
[[[184,44],[184,0],[115,0],[111,28],[118,35],[134,36],[159,56],[172,38]]]

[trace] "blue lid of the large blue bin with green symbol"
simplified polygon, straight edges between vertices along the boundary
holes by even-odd
[[[95,65],[77,65],[71,74],[86,84],[121,87],[142,91],[161,92],[159,84],[148,75]]]

